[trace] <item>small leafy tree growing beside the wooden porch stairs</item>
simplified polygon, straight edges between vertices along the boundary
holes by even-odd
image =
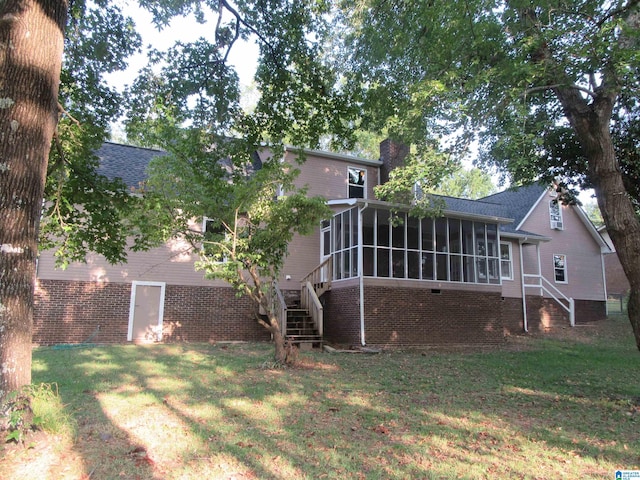
[[[278,161],[281,155],[256,165],[255,151],[245,150],[243,141],[227,140],[196,157],[180,152],[151,165],[145,195],[160,215],[154,220],[170,226],[167,238],[193,245],[200,256],[196,268],[208,278],[225,280],[254,302],[256,321],[272,334],[276,362],[286,363],[273,284],[294,234],[309,234],[330,216],[325,199],[296,188],[299,171]],[[203,217],[204,232],[193,228]]]

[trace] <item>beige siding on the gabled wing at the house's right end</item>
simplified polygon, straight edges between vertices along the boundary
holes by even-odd
[[[600,246],[580,219],[575,210],[577,207],[563,205],[564,229],[552,229],[549,223],[549,200],[551,198],[545,196],[521,226],[522,230],[551,238],[550,242],[540,244],[542,275],[565,295],[576,300],[604,300]],[[554,254],[567,256],[566,284],[554,280]]]

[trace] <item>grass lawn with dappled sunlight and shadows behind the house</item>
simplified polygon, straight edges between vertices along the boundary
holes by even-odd
[[[490,351],[170,344],[34,352],[71,428],[0,447],[0,478],[615,478],[640,470],[628,320]],[[66,433],[65,433],[66,432]]]

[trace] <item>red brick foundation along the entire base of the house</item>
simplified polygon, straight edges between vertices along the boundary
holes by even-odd
[[[523,333],[522,301],[498,292],[366,285],[368,345],[487,345]],[[126,343],[131,284],[40,280],[36,288],[33,342]],[[340,286],[321,298],[325,340],[360,344],[360,289]],[[527,297],[530,332],[569,325],[554,301]],[[606,317],[605,302],[576,301],[576,323]],[[231,288],[167,285],[165,342],[268,341],[246,297]]]

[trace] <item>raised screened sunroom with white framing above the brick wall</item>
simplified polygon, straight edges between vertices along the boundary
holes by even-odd
[[[511,250],[508,243],[501,245],[498,228],[507,219],[444,213],[419,219],[362,202],[334,215],[322,228],[322,251],[332,255],[333,279],[361,273],[497,285],[511,275]]]

